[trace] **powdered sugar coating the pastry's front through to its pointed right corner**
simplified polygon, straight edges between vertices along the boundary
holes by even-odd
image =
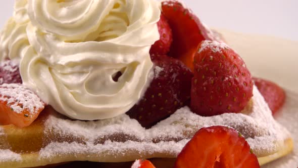
[[[276,152],[289,137],[289,133],[273,119],[256,87],[252,102],[240,114],[203,117],[184,107],[148,130],[126,114],[99,121],[73,121],[59,115],[51,115],[45,121],[45,135],[56,133],[57,137],[62,138],[83,137],[83,142],[61,143],[61,140],[54,139],[40,150],[40,159],[51,159],[58,154],[82,153],[111,157],[127,154],[130,150],[145,157],[155,156],[156,153],[167,153],[175,157],[197,130],[210,125],[229,125],[235,128],[242,133],[257,156]],[[124,139],[109,139],[113,135],[121,135]],[[101,139],[103,137],[106,137],[105,140]]]

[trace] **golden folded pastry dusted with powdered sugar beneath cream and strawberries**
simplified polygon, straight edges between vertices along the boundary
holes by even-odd
[[[202,127],[227,125],[242,133],[260,164],[289,153],[289,132],[272,117],[256,87],[239,114],[202,117],[188,107],[145,130],[123,114],[97,120],[71,120],[47,106],[29,127],[0,128],[0,167],[34,167],[68,161],[126,162],[136,158],[175,158]]]

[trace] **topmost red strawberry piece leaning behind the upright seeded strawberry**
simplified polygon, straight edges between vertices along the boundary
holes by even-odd
[[[190,9],[178,1],[162,2],[162,13],[168,19],[173,33],[169,56],[181,60],[193,70],[193,57],[202,40],[217,40],[213,32]]]

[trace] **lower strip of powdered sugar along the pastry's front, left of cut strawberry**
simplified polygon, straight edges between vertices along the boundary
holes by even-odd
[[[146,157],[154,153],[175,153],[177,155],[178,150],[182,150],[187,140],[180,142],[112,142],[106,141],[104,144],[81,144],[77,142],[68,143],[53,142],[41,149],[39,152],[39,159],[50,159],[56,155],[78,155],[78,154],[95,154],[98,155],[97,161],[101,160],[101,157],[109,157],[111,160],[116,159],[117,156],[123,156],[128,152],[138,153],[139,157]],[[178,150],[177,150],[178,149]]]

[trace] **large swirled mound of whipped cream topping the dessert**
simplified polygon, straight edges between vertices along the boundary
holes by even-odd
[[[19,61],[23,84],[64,115],[115,117],[146,89],[159,7],[156,0],[17,0],[0,60]]]

